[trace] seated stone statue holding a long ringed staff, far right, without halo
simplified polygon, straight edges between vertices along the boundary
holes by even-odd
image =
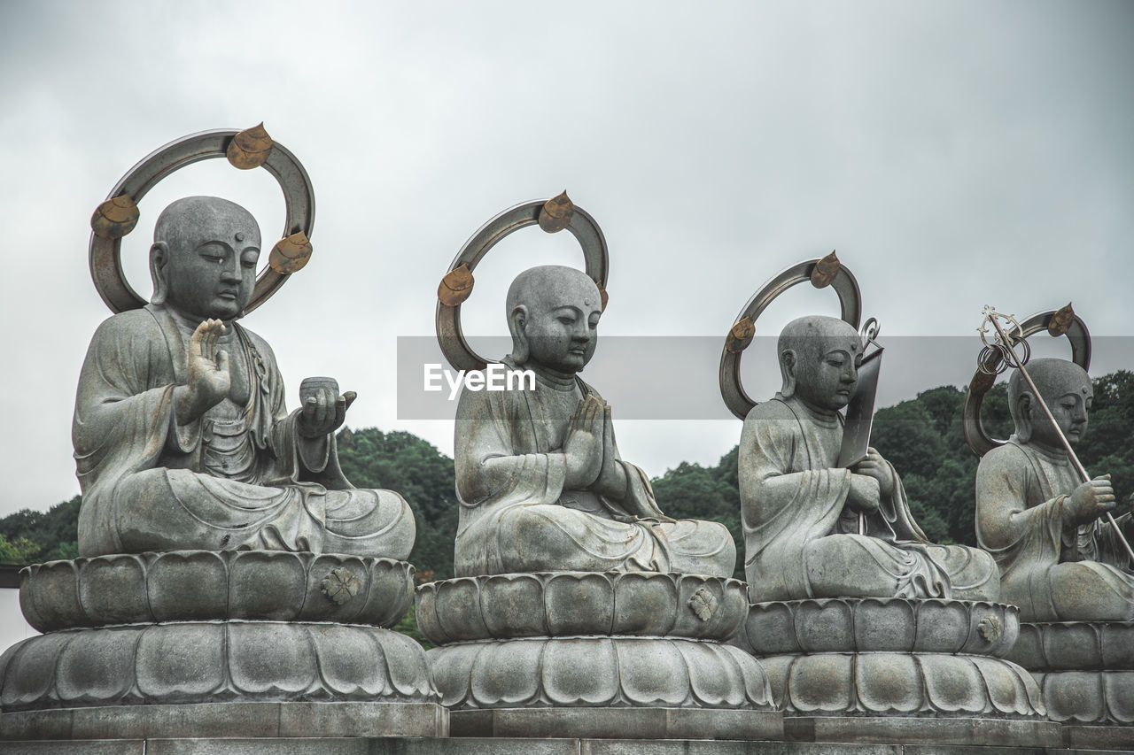
[[[1064,359],[1033,359],[1027,372],[1074,446],[1086,432],[1093,390]],[[1081,483],[1059,435],[1017,370],[1008,382],[1016,432],[981,459],[976,538],[1000,567],[1001,597],[1023,621],[1134,621],[1134,571],[1114,528],[1109,475]],[[1117,518],[1134,537],[1131,514]]]

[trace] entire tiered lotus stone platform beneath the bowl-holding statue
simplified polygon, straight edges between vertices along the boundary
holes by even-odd
[[[46,634],[0,656],[0,739],[443,736],[424,651],[388,628],[413,575],[268,551],[28,567],[20,605]]]

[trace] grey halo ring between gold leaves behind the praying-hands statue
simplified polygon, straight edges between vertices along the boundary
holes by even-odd
[[[547,200],[533,200],[517,204],[481,226],[480,230],[473,234],[472,238],[460,247],[460,252],[454,257],[448,272],[463,264],[468,265],[468,271],[472,272],[489,253],[489,249],[499,244],[506,236],[521,228],[538,224],[540,211],[547,202]],[[607,255],[607,239],[602,236],[599,223],[585,210],[576,205],[567,230],[575,236],[583,248],[586,274],[600,289],[604,288],[608,282],[607,273],[610,260]],[[441,353],[445,354],[445,358],[455,370],[484,370],[488,366],[488,360],[476,354],[465,340],[465,333],[460,329],[459,304],[447,306],[439,300],[435,322],[437,340],[441,346]]]

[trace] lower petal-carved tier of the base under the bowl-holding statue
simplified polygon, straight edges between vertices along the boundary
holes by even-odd
[[[240,702],[439,702],[425,654],[378,627],[201,621],[73,629],[0,658],[0,709]]]

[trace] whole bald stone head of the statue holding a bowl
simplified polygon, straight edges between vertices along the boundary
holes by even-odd
[[[214,196],[174,202],[150,247],[154,304],[187,317],[232,320],[252,300],[260,227],[238,204]]]

